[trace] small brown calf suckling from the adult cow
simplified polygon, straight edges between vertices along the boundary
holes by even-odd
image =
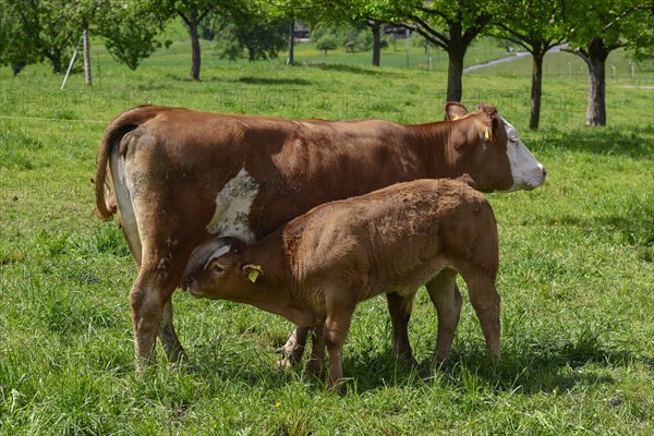
[[[209,243],[207,264],[189,275],[189,291],[315,326],[315,370],[326,344],[328,383],[337,390],[354,308],[382,293],[413,299],[426,283],[438,313],[434,361],[445,361],[461,312],[457,274],[468,283],[488,351],[499,358],[497,226],[484,195],[460,181],[398,183],[318,206],[252,245],[217,242]]]

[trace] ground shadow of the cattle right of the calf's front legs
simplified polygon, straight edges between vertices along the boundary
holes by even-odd
[[[359,392],[386,386],[420,387],[431,379],[438,379],[437,383],[461,392],[536,395],[613,384],[614,378],[603,370],[634,362],[654,370],[653,360],[638,356],[619,344],[606,344],[601,336],[593,329],[581,329],[569,339],[559,337],[549,342],[522,339],[504,347],[499,364],[488,361],[483,344],[458,344],[452,349],[451,363],[446,371],[433,370],[431,359],[410,367],[399,363],[389,349],[377,356],[346,354],[343,371],[347,377],[356,380]]]

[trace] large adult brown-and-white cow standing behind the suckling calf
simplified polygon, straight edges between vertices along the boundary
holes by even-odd
[[[96,204],[106,219],[119,214],[138,265],[130,291],[137,367],[157,335],[169,360],[183,356],[170,299],[204,241],[253,242],[319,204],[415,179],[469,174],[480,191],[544,182],[543,166],[494,106],[468,113],[452,102],[446,112],[448,121],[403,125],[146,106],[113,120],[98,152]],[[405,303],[388,294],[393,350],[411,360]],[[299,334],[302,342],[306,330]]]

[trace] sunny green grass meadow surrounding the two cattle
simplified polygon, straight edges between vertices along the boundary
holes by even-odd
[[[392,356],[384,299],[359,306],[342,397],[303,367],[275,367],[290,323],[175,292],[175,325],[193,371],[171,368],[159,349],[155,371],[135,375],[126,300],[134,262],[116,221],[93,215],[95,154],[114,116],[156,104],[292,118],[443,119],[445,69],[373,69],[364,65],[370,53],[339,53],[356,61],[332,63],[336,56],[308,45],[298,48],[292,68],[283,57],[228,62],[207,44],[203,81],[192,83],[182,39],[135,72],[94,50],[92,88],[76,74],[60,90],[62,77],[47,65],[16,78],[0,69],[0,435],[654,433],[651,65],[608,81],[608,125],[601,129],[583,125],[582,75],[546,75],[535,132],[526,129],[529,60],[464,76],[463,102],[496,104],[548,170],[537,190],[487,195],[500,235],[499,366],[487,365],[461,282],[463,313],[447,373],[429,367],[437,322],[426,292],[410,323],[417,367]],[[552,55],[546,68],[567,73],[568,62],[577,58]],[[628,71],[622,53],[610,62]]]

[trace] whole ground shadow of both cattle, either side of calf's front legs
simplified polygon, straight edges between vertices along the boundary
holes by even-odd
[[[581,329],[572,338],[520,338],[502,344],[502,361],[489,364],[482,343],[458,343],[447,371],[434,370],[431,359],[417,366],[398,361],[390,348],[382,352],[348,350],[343,356],[346,391],[358,393],[387,387],[425,388],[434,383],[461,393],[520,395],[566,392],[579,386],[610,385],[607,368],[640,363],[654,371],[654,360],[634,354],[619,344],[606,344],[593,329]],[[516,339],[516,338],[513,338]],[[282,389],[300,384],[310,391],[325,389],[324,374],[305,370],[306,359],[292,370],[279,370],[277,355],[261,350],[225,350],[221,347],[195,350],[195,373],[207,379],[238,380],[264,389]],[[581,370],[583,367],[583,370]]]

